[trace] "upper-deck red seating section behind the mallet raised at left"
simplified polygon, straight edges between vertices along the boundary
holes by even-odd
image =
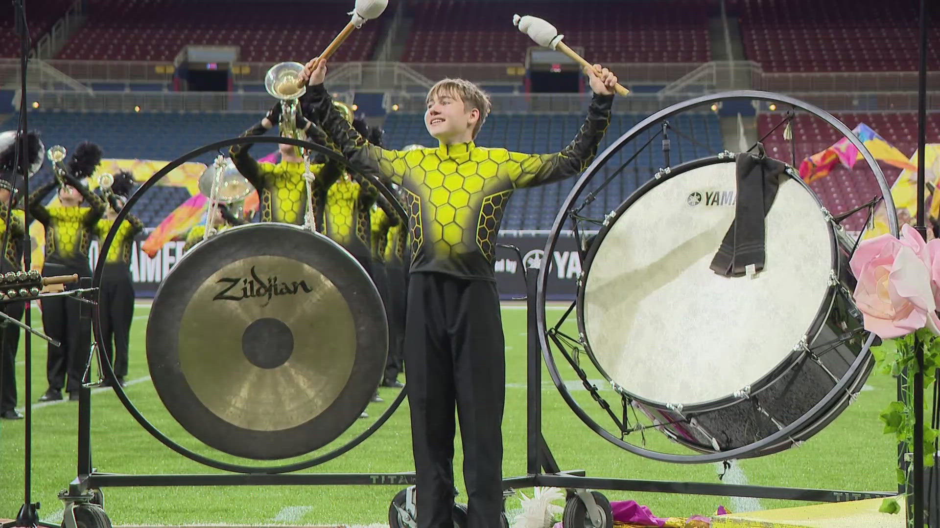
[[[280,0],[92,0],[87,23],[57,58],[170,61],[187,44],[238,45],[246,62],[304,61],[349,22],[348,3]],[[365,24],[334,59],[368,60],[378,24]]]

